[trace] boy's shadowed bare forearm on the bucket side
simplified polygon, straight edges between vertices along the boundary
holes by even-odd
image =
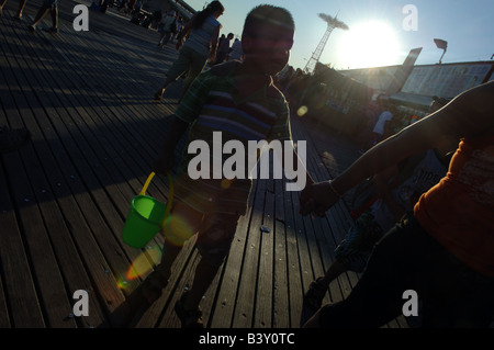
[[[156,173],[166,173],[173,168],[175,148],[189,126],[189,123],[183,122],[177,116],[173,115],[172,117],[173,120],[171,121],[170,128],[165,136],[161,150],[156,160],[153,162],[153,171]]]

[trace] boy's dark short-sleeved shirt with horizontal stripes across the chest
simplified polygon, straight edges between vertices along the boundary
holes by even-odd
[[[198,154],[184,149],[175,183],[175,195],[202,213],[243,215],[246,212],[251,180],[248,173],[233,180],[214,179],[213,163],[223,166],[232,154],[214,159],[214,147],[223,150],[228,140],[244,145],[244,155],[233,151],[235,158],[248,160],[248,142],[272,139],[291,140],[289,108],[283,94],[273,86],[271,77],[266,84],[248,97],[235,93],[234,72],[240,63],[232,61],[201,74],[191,84],[175,115],[192,124],[189,140],[204,140],[209,145],[211,161],[209,179],[189,177],[189,162]],[[222,145],[213,145],[213,132],[221,132]],[[217,149],[217,148],[216,148]],[[248,172],[247,166],[244,168]]]

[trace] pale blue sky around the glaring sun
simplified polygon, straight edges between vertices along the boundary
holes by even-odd
[[[206,1],[186,0],[202,10]],[[327,24],[318,13],[337,15],[349,30],[335,29],[319,61],[335,69],[401,65],[409,50],[422,47],[416,65],[434,65],[448,43],[442,64],[491,60],[494,55],[493,0],[221,0],[222,34],[240,36],[247,13],[257,4],[288,9],[295,22],[289,65],[304,68]]]

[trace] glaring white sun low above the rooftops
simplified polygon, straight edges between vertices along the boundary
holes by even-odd
[[[367,68],[396,64],[400,43],[391,26],[369,21],[350,25],[340,48],[341,68]]]

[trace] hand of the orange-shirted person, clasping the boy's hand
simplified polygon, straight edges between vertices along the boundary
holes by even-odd
[[[300,214],[305,216],[313,213],[315,216],[324,216],[338,200],[329,182],[308,183],[300,195]]]

